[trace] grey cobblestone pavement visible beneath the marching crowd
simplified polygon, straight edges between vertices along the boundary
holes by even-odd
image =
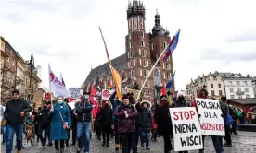
[[[138,146],[140,153],[163,153],[163,140],[162,137],[158,138],[157,143],[151,143],[151,150],[147,151],[145,148]],[[256,133],[249,132],[239,132],[239,135],[232,136],[233,147],[224,147],[224,153],[256,153]],[[92,138],[90,145],[91,153],[113,153],[114,151],[114,139],[111,139],[111,144],[109,147],[102,147],[101,142]],[[25,149],[22,150],[24,153],[54,153],[54,147],[47,147],[42,149],[40,144],[35,144],[34,146],[24,144]],[[66,148],[65,148],[66,149]],[[6,145],[1,145],[1,152],[6,151]],[[13,151],[15,152],[15,151]],[[65,150],[65,153],[75,153],[76,147],[70,147]],[[214,153],[214,148],[212,147],[211,137],[207,137],[205,140],[205,152]],[[121,153],[121,151],[120,151]],[[190,151],[189,153],[198,153],[198,151]]]

